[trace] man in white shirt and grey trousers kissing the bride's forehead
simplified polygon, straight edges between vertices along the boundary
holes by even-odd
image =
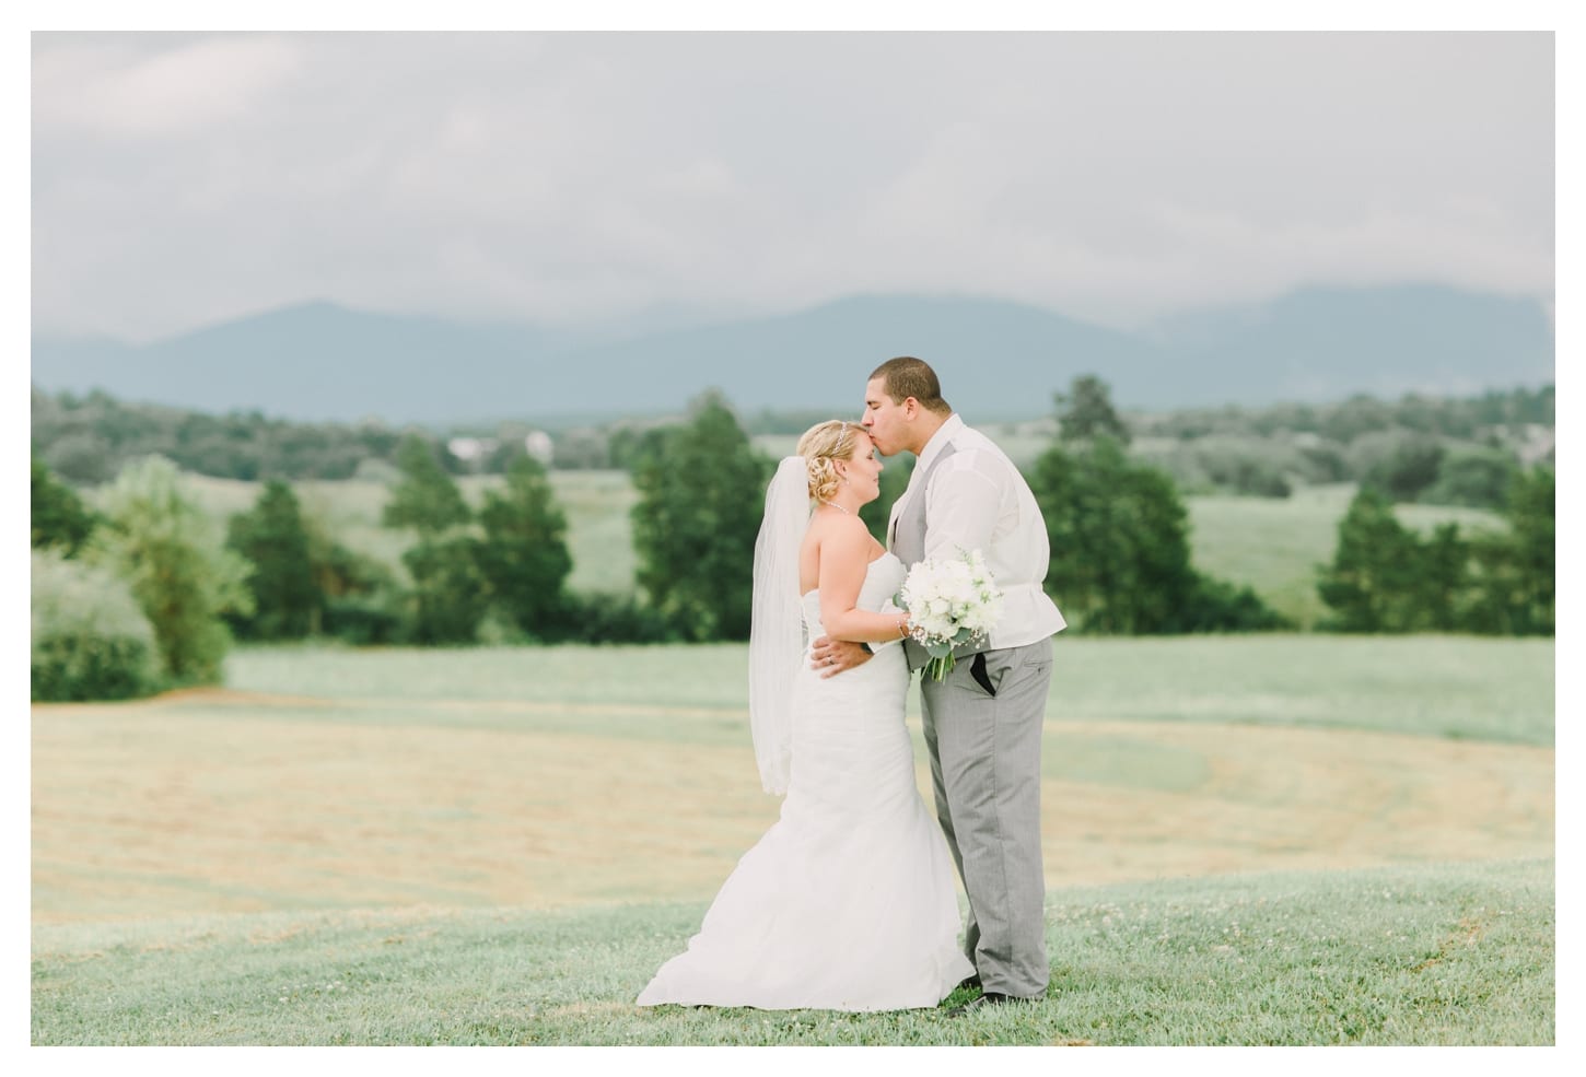
[[[945,680],[920,680],[936,814],[969,895],[964,952],[983,1006],[1037,999],[1050,966],[1040,866],[1040,726],[1052,682],[1052,636],[1063,614],[1040,590],[1047,527],[1018,468],[942,400],[925,362],[891,358],[864,390],[864,428],[882,455],[915,454],[893,504],[888,549],[904,566],[979,549],[1001,588],[988,639],[955,650]],[[904,642],[909,669],[929,655]],[[833,676],[869,660],[861,644],[815,641],[814,665]],[[971,980],[974,983],[974,980]]]

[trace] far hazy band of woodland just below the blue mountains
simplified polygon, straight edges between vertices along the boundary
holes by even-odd
[[[749,435],[801,433],[817,412],[763,409],[742,420]],[[1397,501],[1500,508],[1515,474],[1551,460],[1554,389],[1513,389],[1472,398],[1351,397],[1332,404],[1201,408],[1124,414],[1129,455],[1167,471],[1185,493],[1288,496],[1304,485],[1356,482]],[[549,466],[631,471],[649,431],[676,419],[525,422],[449,431],[381,422],[295,424],[257,411],[208,416],[117,401],[103,392],[33,390],[33,439],[62,477],[98,484],[144,455],[217,477],[347,479],[395,465],[408,435],[436,444],[449,474],[506,474],[525,441],[541,438]],[[454,452],[452,449],[457,449]],[[458,455],[458,452],[465,455]]]

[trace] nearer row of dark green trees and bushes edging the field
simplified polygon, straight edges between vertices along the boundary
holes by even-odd
[[[1026,470],[1053,560],[1045,581],[1074,631],[1153,634],[1293,628],[1250,587],[1190,557],[1172,476],[1128,452],[1104,382],[1056,397],[1056,436]],[[745,639],[750,566],[774,462],[709,392],[625,452],[638,588],[579,595],[566,517],[527,452],[476,511],[433,439],[403,435],[382,523],[406,535],[406,579],[303,512],[284,479],[224,528],[165,457],[124,466],[89,508],[35,452],[33,698],[121,698],[219,677],[235,638],[354,644],[665,642]],[[882,538],[912,457],[882,473],[861,517]],[[1389,496],[1361,489],[1318,588],[1339,631],[1553,631],[1553,471],[1516,471],[1505,533],[1429,539]]]

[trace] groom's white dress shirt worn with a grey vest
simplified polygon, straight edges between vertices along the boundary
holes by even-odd
[[[931,463],[952,446],[953,452],[929,477]],[[993,650],[1023,647],[1063,631],[1066,622],[1056,603],[1040,590],[1047,577],[1050,547],[1047,525],[1036,495],[990,438],[964,425],[953,412],[931,435],[915,460],[909,487],[893,504],[887,523],[887,546],[898,527],[898,516],[910,498],[925,496],[925,555],[955,558],[963,550],[985,555],[991,579],[1002,590],[1002,615],[991,630]]]

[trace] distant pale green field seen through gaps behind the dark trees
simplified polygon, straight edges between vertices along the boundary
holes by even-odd
[[[766,452],[791,450],[791,443],[758,438]],[[1010,449],[1012,450],[1012,449]],[[259,496],[259,484],[189,476],[200,501],[217,516],[239,512]],[[479,504],[482,492],[501,479],[462,479],[465,495]],[[573,552],[569,585],[582,592],[628,593],[636,558],[630,512],[638,501],[626,471],[552,471],[552,487],[568,514]],[[327,520],[354,549],[400,568],[409,538],[379,523],[385,487],[379,482],[298,482],[308,511]],[[1275,609],[1310,628],[1326,612],[1316,596],[1315,566],[1332,558],[1339,520],[1348,509],[1353,485],[1302,489],[1291,498],[1191,496],[1191,550],[1197,568],[1235,584],[1248,584]],[[1480,509],[1410,504],[1399,508],[1408,527],[1429,531],[1454,520],[1464,528],[1502,527]],[[1063,596],[1056,596],[1063,604]]]

